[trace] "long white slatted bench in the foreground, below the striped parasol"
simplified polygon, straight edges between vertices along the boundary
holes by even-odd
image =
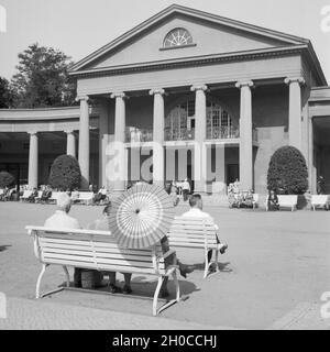
[[[26,227],[25,229],[34,239],[34,253],[42,263],[42,271],[36,282],[36,298],[50,294],[40,294],[41,280],[46,267],[61,265],[66,275],[67,286],[70,282],[67,266],[158,277],[153,298],[154,316],[180,299],[179,284],[176,277],[178,267],[177,265],[165,265],[165,258],[174,254],[175,251],[163,254],[161,244],[143,250],[130,250],[119,248],[108,231],[55,230],[43,227]],[[157,309],[163,280],[169,276],[173,277],[175,283],[176,298]]]

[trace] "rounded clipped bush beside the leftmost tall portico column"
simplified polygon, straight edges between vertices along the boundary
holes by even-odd
[[[72,155],[61,155],[55,158],[51,173],[50,185],[61,190],[73,190],[80,186],[81,172],[77,160]]]

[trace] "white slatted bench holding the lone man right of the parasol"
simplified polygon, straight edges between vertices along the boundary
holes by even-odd
[[[217,230],[215,223],[207,218],[175,217],[169,231],[167,232],[170,248],[204,249],[205,271],[204,278],[208,275],[208,270],[216,264],[218,268],[219,243],[217,242]],[[212,250],[216,260],[208,263],[208,251]]]

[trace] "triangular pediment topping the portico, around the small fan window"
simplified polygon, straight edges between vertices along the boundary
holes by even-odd
[[[187,30],[193,37],[191,43],[172,48],[164,47],[166,34],[174,29]],[[172,6],[80,61],[72,72],[102,70],[142,63],[263,51],[308,42],[288,34]]]

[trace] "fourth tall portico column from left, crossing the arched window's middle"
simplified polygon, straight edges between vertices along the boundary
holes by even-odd
[[[195,193],[206,193],[207,180],[207,154],[206,154],[206,90],[207,86],[193,86],[196,92],[195,99],[195,151],[194,151],[194,177]]]

